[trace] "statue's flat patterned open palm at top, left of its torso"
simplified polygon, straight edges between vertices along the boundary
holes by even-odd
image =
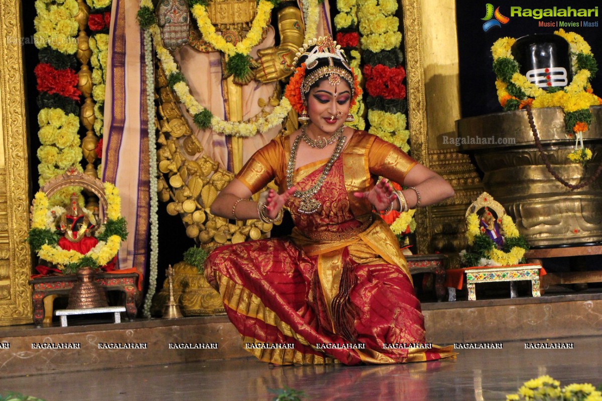
[[[157,5],[157,25],[163,47],[175,51],[188,43],[190,13],[185,0],[162,0]]]

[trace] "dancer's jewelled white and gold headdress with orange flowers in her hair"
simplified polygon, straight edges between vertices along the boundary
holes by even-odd
[[[305,109],[306,97],[312,85],[325,76],[331,85],[340,84],[341,78],[347,81],[351,88],[352,106],[361,93],[358,79],[347,63],[341,46],[330,36],[314,38],[303,44],[294,58],[293,66],[296,72],[287,85],[285,96],[299,113]]]

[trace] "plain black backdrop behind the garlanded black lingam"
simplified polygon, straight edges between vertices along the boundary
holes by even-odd
[[[485,17],[485,5],[491,3],[494,9],[500,7],[500,13],[510,18],[501,28],[494,26],[483,31],[482,20]],[[594,8],[598,6],[598,17],[511,17],[510,7],[522,8]],[[593,13],[592,13],[593,15]],[[498,38],[520,38],[529,34],[553,34],[558,27],[539,27],[539,21],[598,21],[602,25],[602,2],[599,0],[456,0],[456,19],[458,22],[458,56],[460,62],[460,102],[462,117],[501,112],[495,90],[495,74],[492,70],[493,57],[491,46]],[[600,66],[602,55],[602,26],[566,27],[566,32],[576,32],[592,47],[592,53]],[[594,93],[602,93],[602,72],[598,72],[592,81]]]

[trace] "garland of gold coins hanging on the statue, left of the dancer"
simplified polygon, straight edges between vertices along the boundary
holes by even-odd
[[[157,68],[156,85],[159,100],[157,126],[161,130],[157,141],[161,145],[157,150],[158,170],[161,173],[157,192],[162,201],[170,201],[167,213],[180,215],[187,236],[196,239],[206,249],[223,243],[265,237],[272,226],[267,227],[259,220],[232,224],[228,219],[211,215],[211,204],[218,192],[234,178],[234,174],[203,155],[203,147],[182,118],[175,103],[176,96],[167,87],[160,66]],[[173,121],[182,121],[184,128],[175,132]]]

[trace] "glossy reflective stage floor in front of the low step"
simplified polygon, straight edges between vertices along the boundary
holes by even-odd
[[[561,385],[601,384],[600,337],[539,342],[573,343],[574,349],[525,349],[524,341],[504,341],[502,349],[459,350],[455,360],[359,367],[279,367],[244,358],[3,378],[0,393],[18,391],[46,401],[255,401],[272,400],[268,389],[288,386],[303,391],[303,401],[496,401],[540,375]]]

